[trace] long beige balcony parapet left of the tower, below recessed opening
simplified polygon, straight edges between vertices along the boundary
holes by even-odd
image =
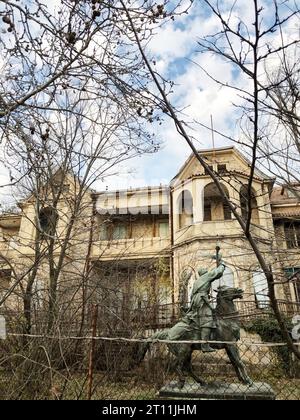
[[[169,255],[169,238],[120,239],[97,241],[92,247],[92,259],[131,259]]]

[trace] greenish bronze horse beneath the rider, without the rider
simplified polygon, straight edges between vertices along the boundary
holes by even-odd
[[[210,346],[215,350],[225,349],[232,363],[238,379],[247,385],[252,385],[253,381],[248,376],[245,366],[241,360],[237,342],[240,339],[240,321],[238,311],[234,301],[242,299],[243,290],[222,286],[218,289],[217,307],[215,316],[217,328],[215,329]],[[177,324],[172,327],[176,328]],[[172,336],[172,328],[154,334],[148,342],[141,345],[138,360],[142,361],[150,348],[151,343],[158,340],[168,340]],[[187,329],[181,336],[179,341],[195,341],[195,331]],[[188,343],[168,343],[169,351],[176,357],[176,371],[179,375],[179,388],[183,388],[187,376],[191,376],[200,385],[205,382],[198,377],[193,371],[192,354],[195,350],[202,350],[201,344]]]

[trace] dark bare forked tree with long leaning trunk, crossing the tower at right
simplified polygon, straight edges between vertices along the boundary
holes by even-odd
[[[255,240],[253,233],[251,232],[251,218],[253,210],[251,189],[255,170],[259,164],[260,147],[262,146],[263,140],[266,138],[266,131],[264,131],[265,120],[262,118],[262,116],[264,115],[267,101],[272,102],[273,108],[276,109],[276,112],[280,113],[281,117],[284,118],[285,123],[287,123],[287,116],[291,118],[292,115],[293,124],[292,126],[289,125],[289,128],[293,131],[293,133],[295,132],[294,123],[298,120],[298,115],[295,114],[295,109],[290,109],[290,101],[288,101],[288,104],[285,103],[285,105],[283,105],[282,99],[278,101],[278,86],[276,93],[276,89],[275,91],[272,89],[274,86],[270,87],[268,80],[266,80],[266,77],[262,72],[262,69],[263,66],[266,65],[266,62],[272,59],[273,56],[277,56],[278,54],[285,55],[287,54],[289,48],[299,44],[298,37],[296,39],[284,41],[283,43],[275,46],[272,46],[270,43],[270,35],[276,31],[283,30],[287,22],[295,17],[298,17],[299,9],[296,4],[292,5],[294,6],[292,9],[290,9],[290,4],[287,6],[287,9],[282,9],[282,7],[284,8],[286,6],[286,2],[281,4],[280,2],[275,1],[272,21],[268,19],[265,22],[263,20],[264,9],[260,4],[261,2],[258,0],[253,0],[253,14],[251,16],[251,23],[253,24],[251,24],[243,22],[241,19],[237,18],[236,15],[233,18],[236,3],[237,2],[233,3],[231,10],[223,11],[219,2],[208,0],[203,1],[203,5],[208,7],[210,12],[215,17],[217,17],[220,29],[216,34],[209,35],[200,40],[198,47],[201,48],[202,52],[208,52],[222,57],[224,60],[234,65],[240,74],[245,75],[251,81],[251,87],[250,89],[247,89],[235,85],[229,86],[228,81],[217,80],[213,75],[209,75],[218,85],[223,87],[231,87],[232,89],[236,90],[243,100],[243,103],[240,107],[242,116],[244,118],[243,132],[245,139],[243,140],[243,145],[245,146],[246,150],[248,150],[248,154],[251,158],[248,193],[246,194],[248,201],[246,218],[241,217],[241,214],[238,211],[235,203],[231,202],[227,197],[226,191],[222,187],[218,174],[216,174],[208,166],[205,159],[198,153],[197,147],[195,146],[192,137],[188,133],[185,122],[182,121],[180,114],[168,99],[168,94],[165,91],[159,76],[153,69],[151,60],[149,57],[147,57],[144,43],[141,40],[139,32],[135,26],[133,19],[134,15],[126,7],[125,3],[122,2],[124,9],[127,11],[128,20],[130,21],[130,29],[134,33],[135,40],[139,46],[140,54],[143,57],[149,74],[151,75],[157,88],[157,96],[162,101],[163,106],[165,107],[165,111],[168,113],[169,117],[174,121],[177,131],[188,143],[200,164],[212,177],[221,196],[230,207],[234,217],[239,222],[244,232],[245,238],[254,251],[268,281],[269,296],[272,302],[272,307],[274,309],[284,338],[288,343],[289,348],[294,352],[297,358],[300,359],[300,353],[297,347],[293,344],[287,327],[280,314],[275,294],[276,281],[271,266],[269,261],[261,252],[260,247]],[[208,73],[206,72],[206,74]],[[280,85],[281,83],[279,83],[279,86]],[[284,109],[284,112],[282,112],[282,108]],[[268,137],[268,139],[270,142],[272,141],[270,137]],[[240,142],[237,141],[237,143]],[[268,156],[265,157],[268,158]]]

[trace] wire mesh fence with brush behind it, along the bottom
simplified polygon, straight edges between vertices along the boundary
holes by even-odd
[[[244,385],[237,377],[226,350],[210,354],[194,351],[194,377],[184,369],[182,388],[178,358],[169,351],[170,345],[180,348],[191,344],[126,337],[10,334],[0,341],[0,399],[153,400],[166,386],[177,390],[181,398],[205,387],[218,389],[218,398],[230,398],[230,384],[235,384],[239,399],[251,395],[253,385]],[[261,397],[267,384],[278,400],[300,400],[299,361],[285,344],[243,338],[238,350]],[[201,387],[195,377],[209,385]],[[181,394],[182,389],[185,394]]]

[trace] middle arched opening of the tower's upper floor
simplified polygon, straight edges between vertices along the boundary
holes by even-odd
[[[229,193],[227,188],[222,185],[227,197]],[[204,188],[204,221],[231,220],[230,207],[220,194],[214,183],[206,185]]]

